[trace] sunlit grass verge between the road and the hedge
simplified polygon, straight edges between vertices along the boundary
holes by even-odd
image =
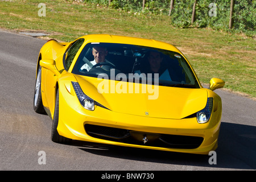
[[[46,4],[40,17],[39,3]],[[0,1],[0,27],[48,32],[69,42],[85,34],[113,34],[162,40],[184,53],[201,82],[221,78],[225,88],[256,97],[256,40],[207,28],[175,28],[170,17],[144,15],[73,1]]]

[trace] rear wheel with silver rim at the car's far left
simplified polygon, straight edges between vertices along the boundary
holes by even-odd
[[[42,92],[41,92],[41,67],[38,68],[38,75],[36,76],[35,82],[35,92],[34,92],[34,110],[36,113],[45,114],[43,101],[42,101]]]

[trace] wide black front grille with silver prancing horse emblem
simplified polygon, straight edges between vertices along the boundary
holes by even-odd
[[[84,127],[86,133],[90,137],[111,140],[114,142],[138,144],[141,146],[192,149],[199,147],[204,140],[203,137],[145,133],[143,131],[125,130],[89,124],[86,124]],[[143,138],[144,142],[145,139],[147,142],[144,143]]]

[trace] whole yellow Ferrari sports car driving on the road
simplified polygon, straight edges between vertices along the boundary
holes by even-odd
[[[51,139],[208,154],[217,148],[225,82],[203,88],[183,53],[156,40],[85,35],[40,49],[34,110]]]

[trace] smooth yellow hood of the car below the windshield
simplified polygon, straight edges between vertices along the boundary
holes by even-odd
[[[181,119],[204,109],[207,104],[207,89],[176,88],[168,86],[158,86],[158,88],[147,88],[146,84],[133,82],[122,82],[115,80],[101,80],[94,77],[76,75],[83,92],[108,109],[118,112],[144,117]],[[103,82],[105,81],[105,82]],[[102,92],[102,88],[105,92]],[[127,85],[127,93],[118,93],[117,89],[121,85]],[[146,90],[151,92],[129,93],[129,88],[133,86],[146,86]],[[98,89],[99,88],[99,89]],[[108,91],[107,91],[108,90]],[[123,89],[124,92],[125,89]],[[102,92],[102,93],[100,93]]]

